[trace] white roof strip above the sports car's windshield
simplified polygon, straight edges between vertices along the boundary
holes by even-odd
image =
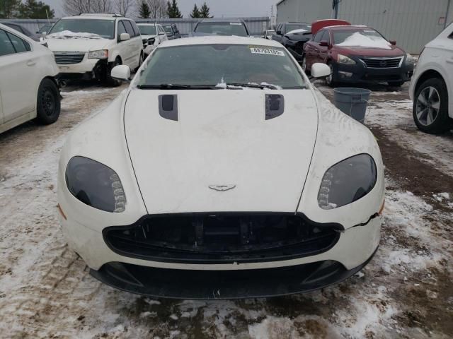
[[[184,39],[166,40],[162,42],[159,47],[190,46],[197,44],[248,44],[282,48],[282,44],[274,40],[262,39],[260,37],[237,37],[229,35],[206,35],[201,37],[186,37]]]

